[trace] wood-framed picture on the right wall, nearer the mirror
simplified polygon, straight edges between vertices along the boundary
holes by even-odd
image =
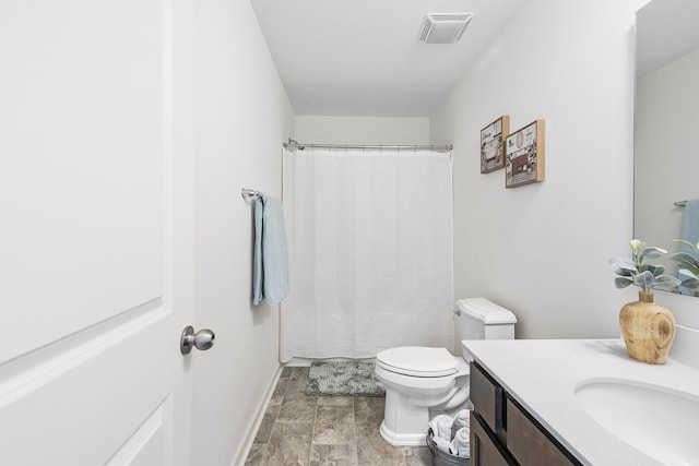
[[[536,120],[505,140],[505,188],[540,181],[544,181],[544,120]]]

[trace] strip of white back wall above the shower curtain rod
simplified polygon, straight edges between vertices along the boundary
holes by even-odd
[[[295,139],[306,144],[428,144],[429,118],[299,116]]]

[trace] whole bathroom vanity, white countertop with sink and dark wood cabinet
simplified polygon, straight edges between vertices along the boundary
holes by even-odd
[[[699,370],[620,339],[464,340],[471,465],[699,464]]]

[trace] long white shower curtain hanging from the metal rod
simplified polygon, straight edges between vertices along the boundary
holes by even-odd
[[[280,360],[451,347],[451,152],[284,150]]]

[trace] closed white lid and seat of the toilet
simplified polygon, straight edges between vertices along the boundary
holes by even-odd
[[[376,359],[386,369],[415,377],[457,373],[457,360],[446,348],[402,346],[379,353]]]

